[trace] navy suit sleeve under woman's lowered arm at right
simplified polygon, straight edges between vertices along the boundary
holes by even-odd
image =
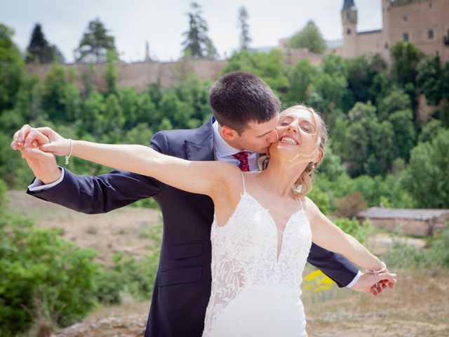
[[[340,288],[351,283],[358,273],[357,267],[349,262],[347,258],[313,243],[311,244],[307,262],[328,275]]]

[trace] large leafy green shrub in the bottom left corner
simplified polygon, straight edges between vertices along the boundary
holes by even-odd
[[[0,219],[0,336],[45,315],[67,326],[95,304],[95,251],[8,213]]]

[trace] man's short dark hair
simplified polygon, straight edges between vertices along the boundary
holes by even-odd
[[[264,123],[281,111],[281,101],[260,77],[250,72],[231,72],[210,88],[210,107],[221,126],[239,135],[249,121]]]

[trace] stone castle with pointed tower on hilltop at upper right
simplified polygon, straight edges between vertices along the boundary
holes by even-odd
[[[380,0],[382,29],[357,32],[354,0],[344,0],[343,43],[335,51],[344,58],[379,53],[390,63],[390,46],[410,41],[427,55],[439,55],[449,62],[448,0]]]

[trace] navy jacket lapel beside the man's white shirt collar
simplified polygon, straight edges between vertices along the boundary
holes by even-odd
[[[192,140],[185,140],[187,159],[194,161],[215,160],[213,154],[213,117],[203,124]]]

